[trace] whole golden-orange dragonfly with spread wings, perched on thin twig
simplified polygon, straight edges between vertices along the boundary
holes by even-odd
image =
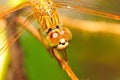
[[[103,3],[102,5],[96,4]],[[66,54],[66,48],[69,46],[69,42],[72,39],[72,33],[68,28],[62,27],[59,14],[56,8],[64,8],[76,10],[85,14],[91,14],[96,16],[102,16],[106,18],[111,18],[114,20],[120,20],[119,9],[111,7],[110,2],[97,0],[97,1],[88,1],[88,0],[30,0],[26,1],[10,10],[3,11],[0,13],[0,18],[5,17],[9,14],[12,14],[20,9],[31,7],[31,12],[27,14],[27,18],[31,19],[33,16],[40,25],[40,30],[45,32],[45,40],[47,47],[50,49],[60,50]],[[110,0],[111,3],[113,0]],[[105,7],[104,7],[105,6]],[[111,10],[110,10],[110,9]],[[26,19],[27,20],[27,19]],[[30,23],[31,23],[30,22]],[[23,25],[28,25],[24,23]],[[3,47],[0,49],[0,54],[2,54],[8,47],[10,47],[14,42],[23,34],[23,30],[18,32],[17,37],[12,38],[16,35],[10,35],[10,38],[13,39],[12,43],[7,45],[3,44]]]

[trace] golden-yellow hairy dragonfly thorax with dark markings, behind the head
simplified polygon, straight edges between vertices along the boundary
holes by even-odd
[[[56,28],[57,25],[60,25],[60,20],[58,17],[58,13],[55,9],[52,1],[49,0],[40,0],[40,1],[32,1],[33,10],[35,17],[41,25],[41,29],[46,33],[49,29]]]

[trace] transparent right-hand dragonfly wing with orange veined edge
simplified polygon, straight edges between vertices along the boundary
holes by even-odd
[[[119,0],[55,0],[59,8],[120,20]]]

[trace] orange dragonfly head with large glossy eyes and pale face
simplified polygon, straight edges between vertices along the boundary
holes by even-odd
[[[47,43],[50,47],[64,50],[68,47],[72,34],[68,28],[61,27],[51,30],[47,35]]]

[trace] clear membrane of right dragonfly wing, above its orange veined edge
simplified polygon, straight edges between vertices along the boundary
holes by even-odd
[[[120,15],[120,0],[55,0],[55,3],[64,3],[66,5],[76,5],[97,11],[115,13]]]

